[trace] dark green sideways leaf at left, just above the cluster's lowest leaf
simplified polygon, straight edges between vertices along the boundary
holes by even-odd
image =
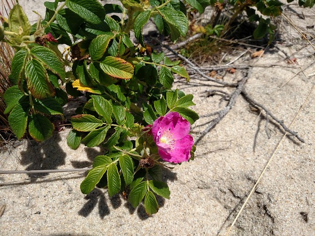
[[[52,97],[45,98],[43,100],[35,100],[34,108],[36,111],[46,115],[61,115],[63,116],[63,108],[60,103]]]

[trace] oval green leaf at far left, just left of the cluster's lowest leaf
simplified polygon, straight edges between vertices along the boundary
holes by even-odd
[[[21,100],[20,102],[12,109],[8,118],[9,125],[18,139],[21,139],[25,134],[30,112],[29,104]]]

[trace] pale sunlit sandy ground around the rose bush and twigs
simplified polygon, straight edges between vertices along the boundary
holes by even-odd
[[[25,6],[32,9],[37,3],[25,0]],[[307,15],[307,20],[300,20],[290,9],[287,16],[314,34],[314,28],[306,26],[314,25],[315,10],[294,5],[292,8]],[[309,75],[315,73],[315,65],[311,64],[315,50],[285,21],[280,33],[283,41],[277,44],[279,49],[269,49],[259,59],[251,58],[252,50],[235,63],[281,65],[253,66],[245,89],[289,125],[313,88],[315,76]],[[283,52],[296,58],[303,72],[280,89],[300,71],[297,64],[285,61]],[[228,56],[223,62],[233,58]],[[242,73],[237,70],[223,79],[235,82],[242,79]],[[212,85],[197,79],[191,79],[189,84],[175,83],[176,88],[194,94],[194,110],[199,115],[226,105],[224,100],[220,103],[219,95],[207,96],[205,90],[215,89]],[[315,90],[291,126],[305,143],[290,136],[284,139],[231,236],[315,235],[314,100]],[[200,118],[192,135],[197,137],[210,120]],[[79,185],[84,173],[2,175],[0,205],[5,204],[6,209],[0,217],[0,235],[224,235],[284,135],[282,129],[270,123],[268,139],[264,127],[265,119],[239,96],[227,116],[197,145],[194,161],[176,166],[173,171],[164,170],[171,199],[159,199],[160,209],[152,217],[146,216],[142,205],[133,209],[122,196],[109,198],[103,189],[82,194]],[[90,166],[93,158],[102,153],[83,145],[77,150],[68,148],[67,133],[66,129],[45,143],[26,141],[1,152],[0,170],[82,168]]]

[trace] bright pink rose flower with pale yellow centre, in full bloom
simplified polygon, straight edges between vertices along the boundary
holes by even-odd
[[[154,121],[153,140],[158,146],[158,154],[164,161],[181,163],[189,160],[193,145],[189,131],[190,123],[177,112],[170,112]]]

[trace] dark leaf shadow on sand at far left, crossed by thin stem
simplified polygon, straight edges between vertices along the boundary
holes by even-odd
[[[25,170],[55,170],[65,164],[66,153],[61,148],[62,138],[60,133],[43,143],[28,142],[27,148],[21,151],[21,164],[27,165]],[[49,173],[28,174],[36,181],[38,177],[47,176]]]

